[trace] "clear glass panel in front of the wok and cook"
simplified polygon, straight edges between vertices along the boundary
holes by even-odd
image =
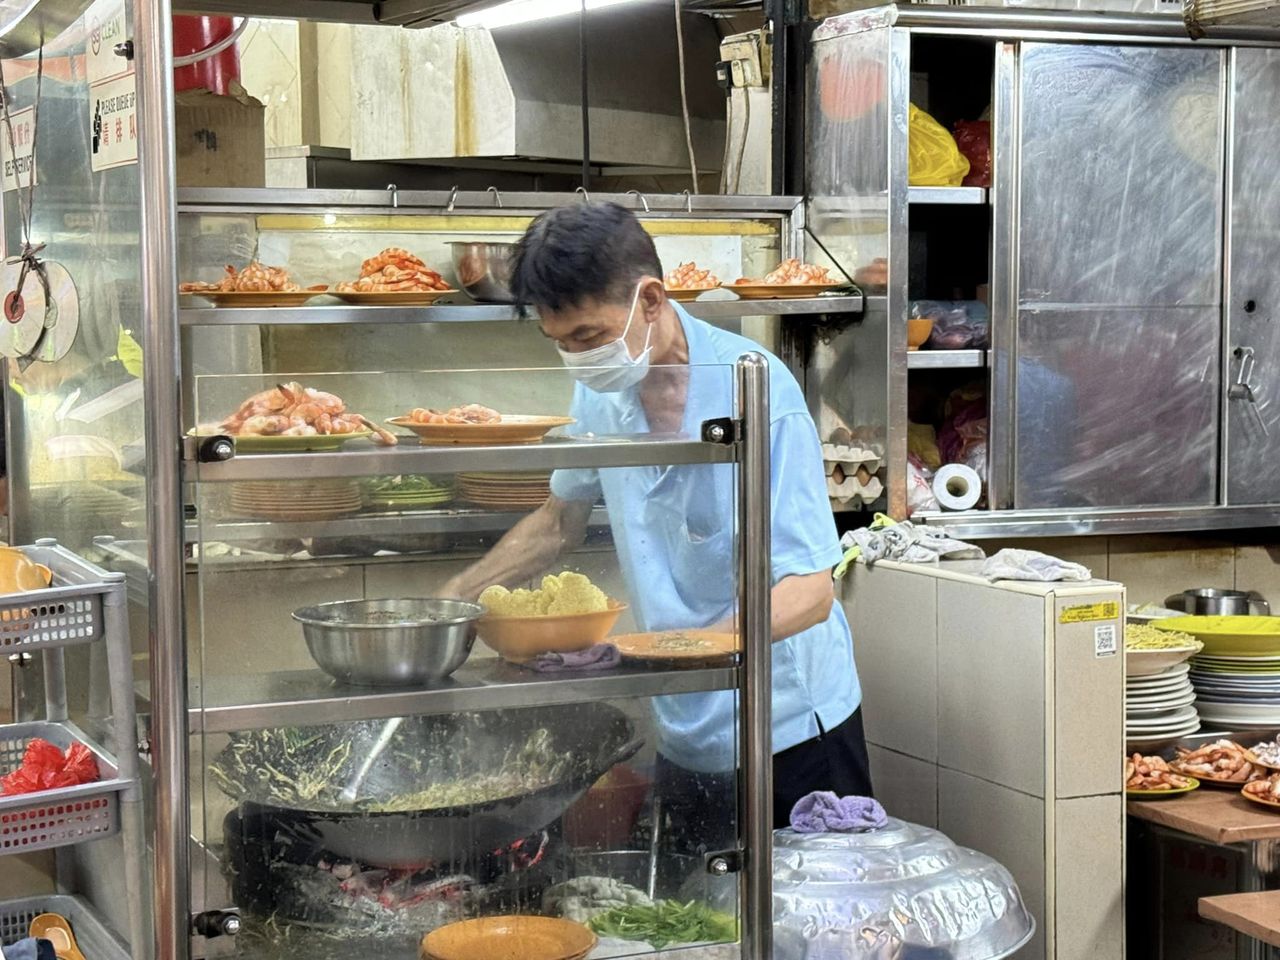
[[[584,922],[627,897],[704,904],[721,915],[701,936],[736,940],[736,878],[712,881],[701,860],[737,837],[736,466],[663,460],[687,449],[703,420],[733,412],[733,369],[654,367],[646,383],[666,379],[681,398],[662,434],[635,389],[579,388],[575,402],[563,369],[202,376],[195,420],[224,422],[246,397],[292,379],[378,424],[476,399],[508,422],[576,422],[506,447],[484,470],[324,476],[376,452],[360,438],[289,454],[292,479],[196,484],[191,681],[205,733],[193,745],[193,823],[206,887],[246,918],[237,948],[346,957],[355,942],[407,960],[452,920]],[[390,429],[390,460],[465,451]],[[568,463],[605,436],[608,449],[655,442],[650,462],[525,466],[548,449]],[[557,513],[539,511],[549,492],[566,504]],[[477,561],[489,572],[468,576]],[[507,589],[481,594],[489,582]],[[393,625],[406,598],[458,594],[489,611],[470,652],[467,618],[480,609],[436,607],[426,626]],[[342,600],[384,603],[300,611]],[[355,636],[349,621],[372,626]],[[602,640],[608,648],[593,645]],[[538,657],[549,649],[567,663]],[[356,799],[343,799],[399,717]],[[613,929],[598,925],[602,937]]]

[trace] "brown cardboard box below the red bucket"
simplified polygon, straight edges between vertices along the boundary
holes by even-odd
[[[262,104],[238,84],[230,96],[184,90],[174,97],[179,187],[265,187]]]

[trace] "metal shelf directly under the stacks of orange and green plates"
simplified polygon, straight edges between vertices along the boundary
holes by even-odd
[[[384,511],[320,521],[218,520],[187,524],[187,543],[201,540],[289,540],[347,536],[403,536],[413,534],[488,534],[509,530],[529,516],[525,511],[442,508],[430,511]],[[608,526],[603,507],[591,511],[591,526]]]

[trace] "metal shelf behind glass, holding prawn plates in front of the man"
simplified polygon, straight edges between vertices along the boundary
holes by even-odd
[[[655,434],[547,439],[525,447],[424,447],[412,438],[398,447],[356,440],[324,453],[242,453],[220,463],[187,461],[186,480],[291,480],[297,476],[353,477],[396,474],[458,474],[463,471],[559,470],[563,467],[643,467],[682,463],[731,463],[728,444],[663,439]],[[358,445],[357,445],[358,444]],[[413,445],[411,445],[413,444]]]

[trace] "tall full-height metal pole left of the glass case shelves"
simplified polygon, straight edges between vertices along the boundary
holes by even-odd
[[[147,444],[151,756],[155,771],[155,955],[189,954],[187,648],[183,639],[180,364],[174,206],[173,12],[134,0],[142,355]]]

